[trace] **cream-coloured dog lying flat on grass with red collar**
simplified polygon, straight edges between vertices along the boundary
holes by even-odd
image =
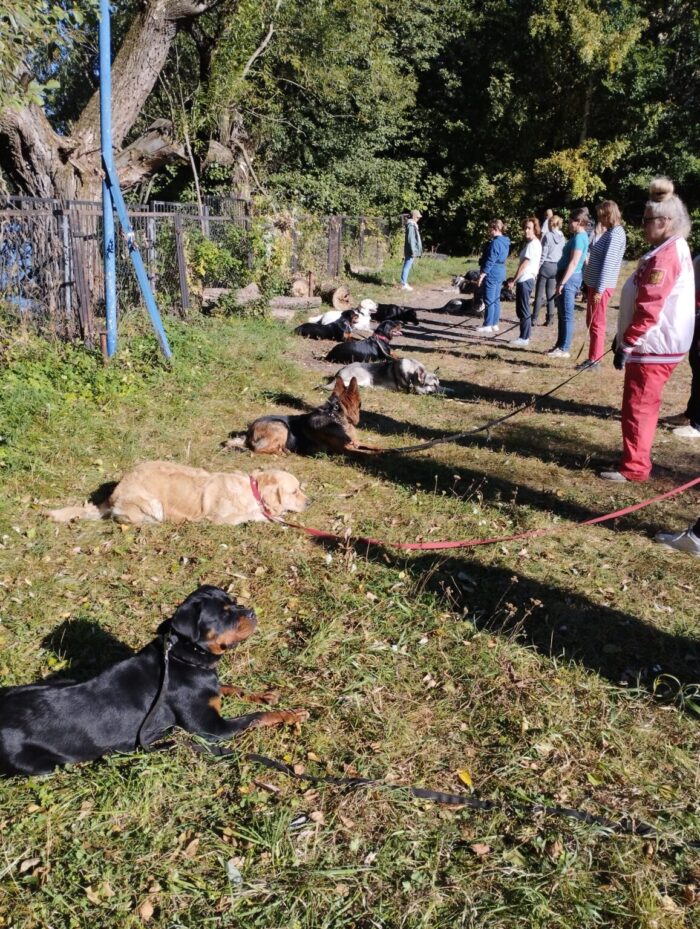
[[[59,523],[111,516],[135,526],[202,519],[227,526],[262,522],[266,517],[253,493],[251,477],[273,516],[306,509],[308,498],[289,471],[258,469],[249,476],[242,471],[209,472],[171,461],[144,461],[124,475],[103,503],[49,510],[47,515]]]

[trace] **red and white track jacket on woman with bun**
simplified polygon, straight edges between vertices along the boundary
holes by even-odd
[[[694,304],[690,249],[673,236],[641,258],[622,288],[617,342],[629,361],[681,361],[693,340]]]

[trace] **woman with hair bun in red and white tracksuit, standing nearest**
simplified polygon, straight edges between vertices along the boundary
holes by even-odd
[[[625,371],[622,458],[617,471],[601,473],[608,481],[649,479],[661,393],[690,348],[695,325],[690,220],[668,178],[652,181],[642,222],[653,247],[620,296],[614,364]]]

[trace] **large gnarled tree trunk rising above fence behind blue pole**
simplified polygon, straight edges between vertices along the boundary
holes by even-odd
[[[165,66],[178,31],[190,27],[219,2],[147,0],[134,11],[112,67],[112,135],[117,169],[126,186],[174,156],[182,156],[164,121],[126,148],[124,141]],[[30,13],[26,4],[17,3],[16,8],[11,4],[0,16],[5,27],[0,46],[5,61],[0,73],[0,165],[7,179],[30,196],[97,199],[101,183],[98,92],[93,90],[81,112],[61,132],[52,125],[41,99],[42,91],[50,90],[55,81],[42,82],[37,77],[42,66],[49,75],[52,68],[61,68],[61,56],[70,54],[66,49],[75,39],[80,20],[70,8],[44,4]],[[51,45],[58,54],[49,54],[53,64],[47,66],[46,49]],[[94,85],[90,73],[83,75],[83,83]]]

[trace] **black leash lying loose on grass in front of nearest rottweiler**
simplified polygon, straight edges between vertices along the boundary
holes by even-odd
[[[403,794],[408,797],[414,797],[417,800],[430,800],[434,803],[442,803],[447,806],[458,806],[469,810],[479,812],[503,812],[516,813],[519,815],[535,818],[536,816],[554,816],[562,819],[573,819],[585,823],[588,826],[599,826],[609,832],[617,835],[638,836],[641,838],[651,838],[661,841],[669,841],[674,848],[700,848],[700,841],[686,841],[664,835],[656,826],[646,823],[643,820],[635,819],[630,816],[623,816],[619,820],[610,819],[607,816],[600,816],[597,813],[589,813],[586,810],[577,810],[565,806],[547,806],[544,803],[519,803],[510,800],[485,800],[480,797],[474,797],[470,794],[453,794],[445,793],[441,790],[431,790],[428,787],[416,787],[414,785],[388,784],[385,781],[375,780],[367,777],[334,777],[332,775],[316,775],[298,773],[294,768],[284,761],[276,758],[268,758],[267,755],[259,755],[256,752],[239,753],[233,749],[211,743],[190,743],[191,747],[200,754],[213,755],[218,759],[240,758],[242,761],[250,762],[254,765],[267,768],[270,771],[278,771],[287,777],[296,781],[302,781],[307,784],[328,785],[330,787],[340,787],[346,790],[366,790],[371,788],[380,788],[391,794]]]

